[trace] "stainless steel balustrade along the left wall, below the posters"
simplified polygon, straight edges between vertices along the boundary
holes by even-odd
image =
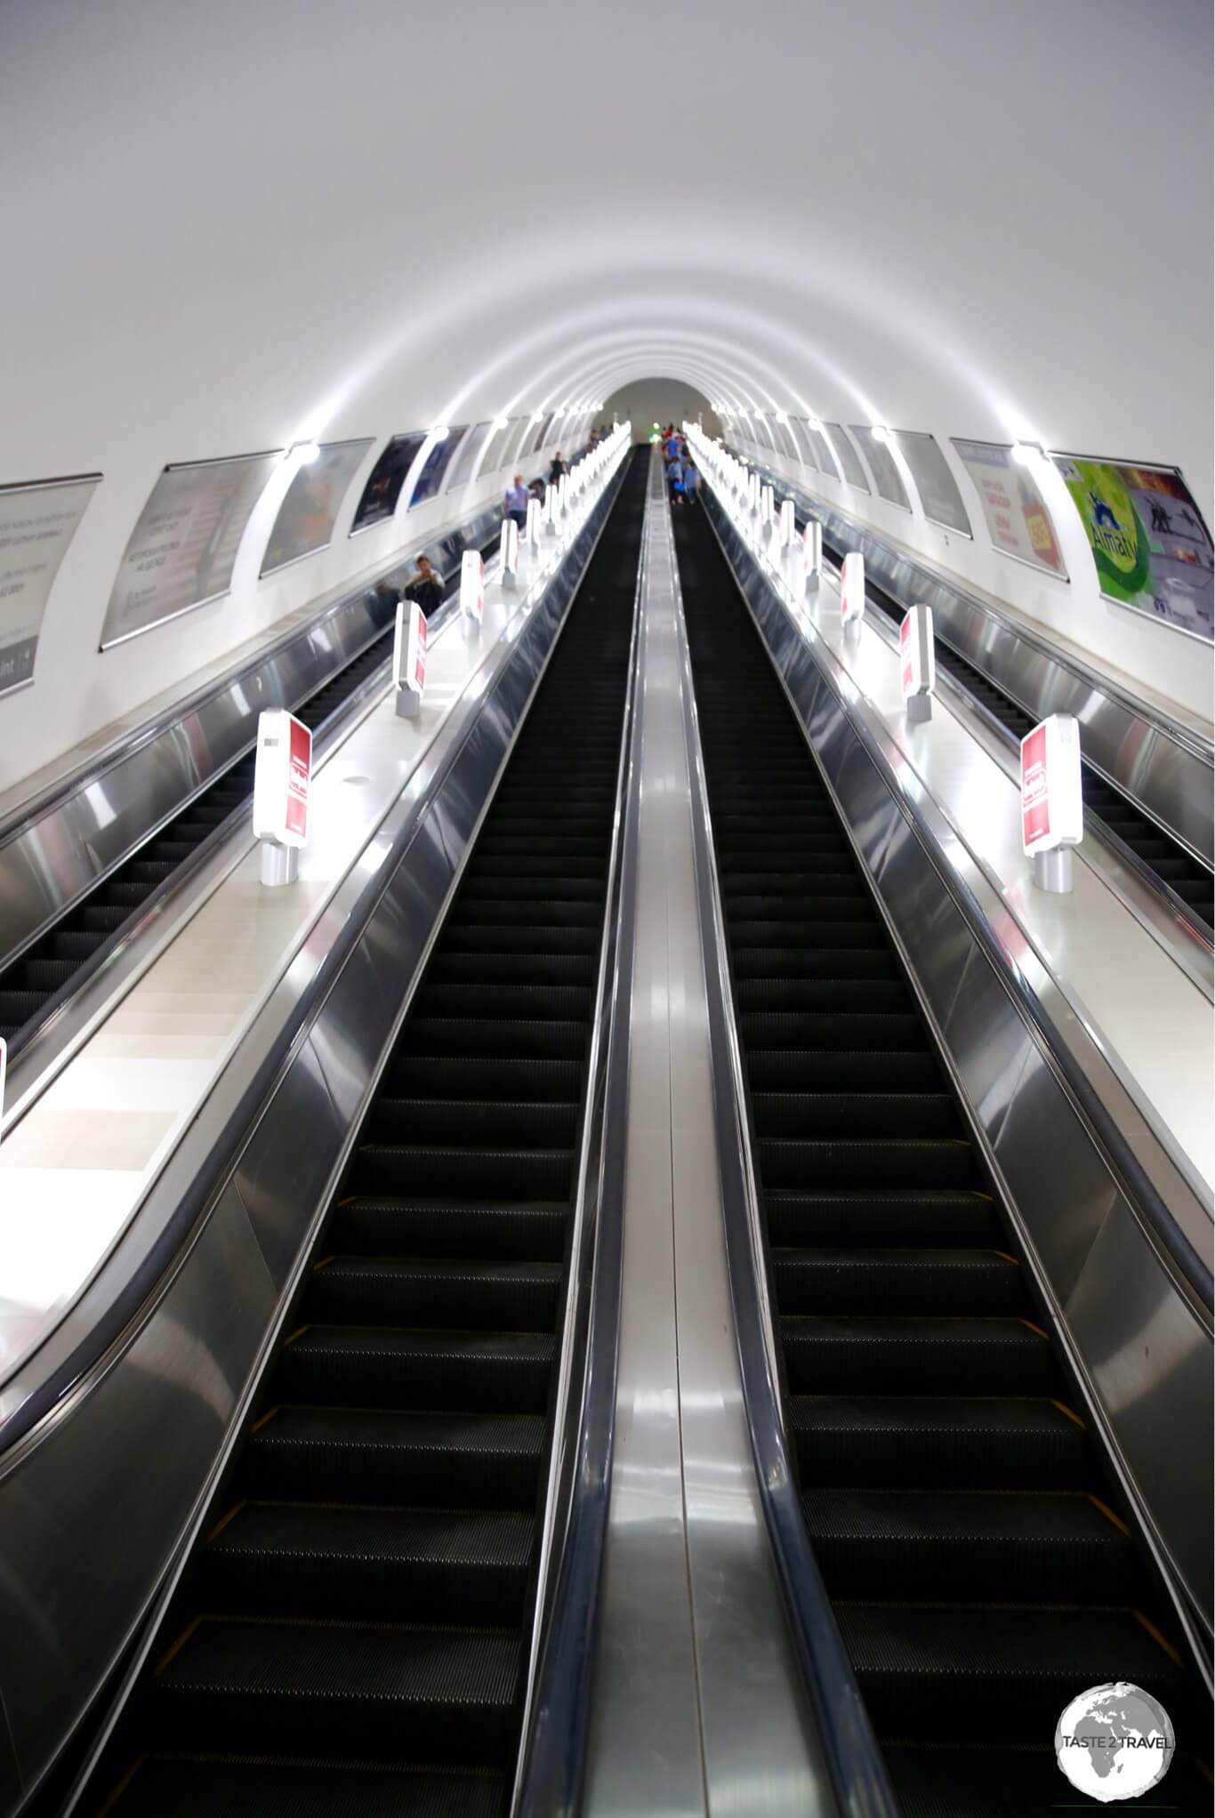
[[[498,509],[480,511],[440,549],[458,560],[467,538],[487,534]],[[431,544],[418,545],[431,547]],[[0,824],[0,964],[120,865],[180,813],[253,742],[256,714],[315,694],[391,624],[377,589],[404,578],[398,554],[375,584],[293,627],[238,669],[187,696],[113,747],[95,753],[40,798]]]

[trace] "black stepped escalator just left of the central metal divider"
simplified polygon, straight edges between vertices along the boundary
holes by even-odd
[[[498,1818],[520,1740],[648,453],[76,1811]]]

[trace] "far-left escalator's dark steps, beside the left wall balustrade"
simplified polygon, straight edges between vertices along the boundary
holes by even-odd
[[[498,536],[482,549],[497,553]],[[389,614],[391,616],[391,614]],[[313,734],[320,734],[333,714],[393,654],[393,627],[382,631],[344,669],[291,711]],[[253,745],[215,782],[200,789],[186,807],[167,820],[144,845],[109,871],[87,894],[80,896],[53,927],[45,929],[16,960],[0,967],[0,1038],[20,1047],[33,1025],[47,1013],[53,998],[95,967],[102,949],[109,951],[156,891],[187,865],[202,844],[231,814],[247,807],[253,796]]]

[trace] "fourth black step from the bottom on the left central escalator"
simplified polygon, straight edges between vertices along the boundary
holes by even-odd
[[[249,1496],[531,1511],[540,1414],[275,1407],[249,1434]]]

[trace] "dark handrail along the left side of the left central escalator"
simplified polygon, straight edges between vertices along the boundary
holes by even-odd
[[[600,498],[595,502],[595,507],[587,516],[587,525],[595,525],[598,522],[602,527],[618,487],[620,469],[608,478]],[[557,574],[560,574],[560,569],[547,576],[546,587],[553,584]],[[29,1394],[24,1396],[20,1405],[16,1405],[7,1418],[0,1420],[0,1460],[7,1458],[13,1449],[31,1436],[44,1420],[53,1416],[58,1402],[76,1383],[87,1380],[93,1373],[104,1367],[111,1347],[116,1347],[122,1342],[122,1336],[131,1322],[138,1318],[140,1309],[187,1249],[191,1233],[204,1218],[207,1207],[231,1173],[233,1154],[238,1151],[246,1133],[255,1125],[262,1107],[269,1102],[278,1076],[289,1065],[304,1031],[311,1027],[333,982],[358,945],[375,902],[378,902],[380,894],[391,882],[398,856],[407,849],[417,829],[429,813],[431,804],[438,796],[447,774],[457,764],[460,751],[475,734],[482,705],[486,700],[493,698],[495,678],[502,673],[502,669],[506,669],[513,654],[515,642],[506,636],[500,638],[493,653],[487,656],[487,673],[478,669],[467,678],[460,700],[467,698],[469,711],[458,727],[453,727],[453,734],[442,754],[438,754],[437,762],[429,765],[424,785],[411,796],[407,809],[400,814],[400,822],[393,833],[391,851],[384,856],[384,862],[377,865],[375,874],[364,885],[366,907],[360,907],[358,913],[346,918],[311,978],[302,985],[291,1005],[291,1013],[278,1024],[278,1027],[275,1027],[256,1067],[253,1067],[235,1100],[226,1105],[222,1122],[211,1138],[204,1165],[195,1171],[189,1187],[180,1193],[166,1211],[164,1224],[156,1231],[155,1240],[149,1244],[146,1256],[131,1269],[122,1285],[100,1311],[98,1318],[93,1320],[80,1344],[76,1344],[67,1356],[60,1358],[31,1387]],[[451,714],[457,705],[458,700],[447,709],[447,718],[444,722],[446,727],[453,725]],[[427,753],[422,760],[424,765],[429,756],[431,753]],[[397,804],[397,807],[400,807],[400,804]],[[389,809],[389,816],[391,814],[393,809]],[[384,822],[378,829],[373,829],[371,838],[375,840],[382,829]],[[160,1185],[160,1180],[149,1189],[151,1194],[156,1193],[156,1185]],[[142,1216],[146,1207],[147,1196],[140,1204],[135,1216]]]

